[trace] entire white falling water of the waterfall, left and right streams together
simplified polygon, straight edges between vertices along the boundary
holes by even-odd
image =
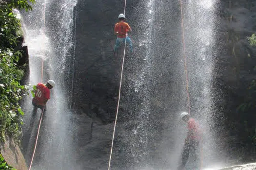
[[[215,0],[182,2],[191,115],[198,119],[206,134],[202,159],[205,166],[211,162],[214,164],[213,160],[216,160],[214,132],[211,129],[211,113],[214,109],[211,83],[214,66],[212,47],[215,40]],[[126,105],[122,105],[122,102],[128,101],[129,109],[124,110],[129,110],[131,115],[120,114],[112,168],[173,170],[177,168],[186,136],[185,123],[179,124],[178,115],[181,111],[188,111],[180,4],[179,1],[170,0],[143,0],[138,4],[138,9],[143,9],[145,15],[138,18],[131,11],[126,13],[134,19],[132,34],[135,35],[137,51],[135,55],[128,54],[130,57],[125,60],[124,79],[128,81],[124,81],[124,85],[128,90],[124,88],[123,93],[129,94],[122,96],[120,106],[125,108]],[[76,0],[46,1],[44,11],[44,1],[39,0],[29,15],[23,15],[25,40],[30,55],[29,82],[32,85],[40,82],[43,59],[43,82],[51,78],[57,83],[52,90],[52,98],[47,103],[33,169],[79,170],[87,168],[89,164],[94,167],[94,163],[90,162],[90,153],[84,154],[85,157],[88,156],[87,162],[83,161],[86,165],[80,162],[80,138],[75,131],[79,129],[78,122],[84,119],[74,116],[66,106],[69,102],[66,99],[72,97],[70,92],[73,91],[75,5]],[[143,20],[145,18],[147,19]],[[127,70],[132,71],[127,73]],[[27,114],[24,118],[23,148],[29,163],[35,140],[30,134],[36,132],[38,121],[35,120],[39,119],[39,113],[33,118],[31,98],[27,98],[25,103],[23,109]],[[81,148],[88,152],[99,145],[102,150],[108,148],[108,140],[102,139],[102,142],[98,140],[102,135],[92,133],[93,127],[97,129],[101,125],[90,123],[91,136],[88,135],[88,145],[84,142],[87,146],[82,145],[84,148]],[[29,129],[32,132],[28,134],[26,131]],[[89,128],[84,128],[84,131],[86,129]],[[97,130],[102,133],[100,128]],[[87,132],[84,131],[86,136]],[[97,150],[96,153],[100,151]],[[100,158],[100,155],[96,156]],[[80,160],[80,164],[75,163],[77,160]],[[192,164],[188,163],[188,166]]]

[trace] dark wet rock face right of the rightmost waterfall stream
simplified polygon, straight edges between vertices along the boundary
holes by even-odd
[[[246,143],[249,135],[244,121],[255,129],[255,111],[245,113],[237,108],[247,98],[247,88],[256,78],[256,48],[247,40],[256,31],[256,0],[221,0],[218,6],[214,89],[215,103],[220,108],[216,116],[222,131],[219,136],[224,139],[219,149],[225,150],[231,159],[248,159],[253,151],[249,149],[251,143]]]

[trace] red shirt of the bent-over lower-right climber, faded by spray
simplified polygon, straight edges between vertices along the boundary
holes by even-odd
[[[190,118],[187,122],[188,124],[188,138],[189,139],[200,139],[200,130],[195,119]]]

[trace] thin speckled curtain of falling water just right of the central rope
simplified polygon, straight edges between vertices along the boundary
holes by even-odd
[[[150,82],[151,82],[151,56],[152,56],[152,32],[154,24],[155,0],[143,0],[138,2],[135,11],[146,11],[144,17],[137,18],[132,30],[138,27],[143,34],[134,31],[131,33],[136,47],[135,54],[129,53],[125,58],[124,79],[120,100],[120,116],[117,124],[117,137],[114,143],[113,165],[114,169],[140,170],[148,167],[151,155],[152,115],[150,106]],[[126,12],[132,19],[132,11]],[[140,25],[139,22],[146,23]],[[129,22],[129,21],[128,21]],[[138,23],[137,23],[138,22]],[[125,95],[127,94],[127,95]],[[127,112],[122,112],[125,109]],[[130,131],[125,129],[129,128]],[[128,137],[129,136],[129,137]],[[138,152],[139,151],[139,152]],[[120,155],[116,154],[120,152]],[[120,164],[125,159],[127,162]]]

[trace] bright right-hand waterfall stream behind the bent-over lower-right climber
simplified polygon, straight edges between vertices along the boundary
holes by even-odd
[[[215,0],[182,0],[181,5],[180,1],[163,1],[159,2],[159,8],[163,9],[162,14],[159,15],[166,17],[164,13],[167,13],[166,18],[160,18],[164,22],[160,29],[163,30],[163,34],[160,36],[162,36],[161,39],[168,37],[167,43],[163,45],[163,49],[167,49],[167,52],[159,51],[159,53],[166,55],[162,59],[170,62],[170,68],[166,68],[169,75],[165,73],[165,76],[166,79],[171,78],[172,80],[169,80],[169,84],[159,80],[159,85],[165,85],[164,91],[169,95],[169,100],[164,98],[163,94],[158,95],[158,98],[162,98],[160,101],[165,103],[167,113],[165,113],[164,119],[168,120],[162,120],[163,127],[166,130],[163,130],[162,142],[158,146],[162,154],[162,158],[158,160],[160,162],[158,166],[163,169],[176,169],[180,163],[187,129],[185,122],[178,119],[181,112],[189,112],[190,104],[191,116],[198,120],[206,137],[203,137],[201,141],[203,152],[198,150],[198,156],[201,160],[195,163],[189,159],[187,169],[199,170],[205,165],[215,164],[214,161],[216,160],[214,130],[211,129],[213,125],[211,86],[214,66],[212,54],[215,43]],[[168,20],[169,16],[171,17],[170,20]],[[186,61],[182,42],[182,24],[184,27]],[[166,29],[168,28],[170,30],[167,32]],[[187,68],[185,68],[185,62]],[[164,68],[167,65],[161,64],[160,66]],[[186,91],[187,76],[185,69],[188,72],[189,94]],[[159,70],[166,72],[161,68]],[[170,88],[170,91],[167,88]],[[190,101],[188,101],[188,95]],[[169,104],[166,102],[169,102]]]

